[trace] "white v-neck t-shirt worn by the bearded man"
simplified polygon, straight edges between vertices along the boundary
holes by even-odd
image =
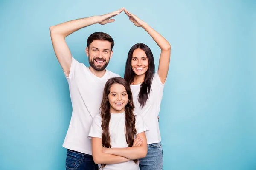
[[[106,70],[99,78],[83,63],[72,57],[69,77],[65,74],[70,89],[72,116],[63,147],[91,155],[91,140],[87,138],[94,116],[99,114],[105,83],[111,77],[120,77]]]

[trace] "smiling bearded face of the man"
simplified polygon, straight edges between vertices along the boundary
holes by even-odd
[[[89,57],[90,66],[96,71],[105,70],[113,54],[111,42],[106,40],[93,40],[85,51]]]

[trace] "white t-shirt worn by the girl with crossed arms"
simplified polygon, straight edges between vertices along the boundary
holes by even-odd
[[[135,128],[137,134],[147,131],[147,127],[143,123],[143,119],[140,115],[136,116]],[[90,128],[88,138],[97,137],[102,138],[102,118],[100,114],[94,117],[93,123]],[[109,122],[109,133],[110,133],[110,145],[112,148],[128,147],[125,138],[125,112],[122,113],[111,113]],[[136,134],[136,135],[137,135]],[[101,165],[99,164],[99,169]],[[101,168],[102,169],[102,168]],[[135,164],[134,161],[127,161],[119,164],[107,164],[104,170],[139,170],[139,164]]]

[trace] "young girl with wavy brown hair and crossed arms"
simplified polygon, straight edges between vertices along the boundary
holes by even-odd
[[[135,116],[130,85],[121,77],[107,81],[101,113],[93,119],[93,160],[104,170],[138,170],[138,159],[147,154],[147,139],[141,116]],[[136,139],[134,140],[136,135]]]

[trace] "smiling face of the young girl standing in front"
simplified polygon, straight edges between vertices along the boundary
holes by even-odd
[[[113,84],[110,87],[108,94],[111,113],[122,113],[125,111],[125,106],[128,103],[128,94],[125,87],[120,84]]]

